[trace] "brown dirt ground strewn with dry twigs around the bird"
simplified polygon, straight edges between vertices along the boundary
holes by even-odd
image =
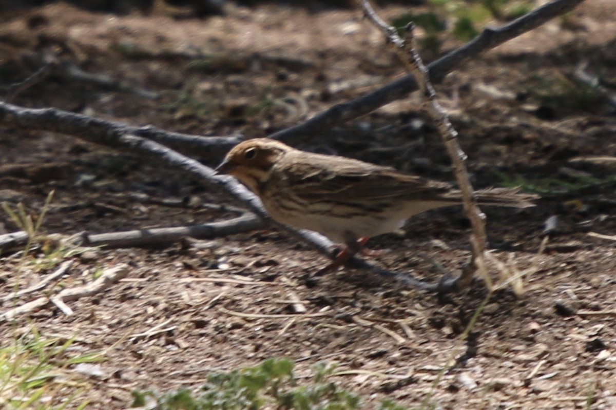
[[[380,10],[388,18],[405,11]],[[0,17],[2,86],[36,70],[43,52],[160,98],[50,76],[15,104],[201,135],[265,136],[402,74],[357,10],[274,4],[205,19],[93,14],[62,3]],[[613,0],[588,0],[566,20],[464,63],[437,86],[475,187],[517,181],[545,188],[537,207],[484,209],[493,253],[535,273],[525,278],[523,295],[493,295],[467,339],[459,336],[486,295],[480,281],[439,300],[351,268],[315,280],[310,275],[326,259],[269,230],[77,255],[63,286],[119,263],[129,263],[130,273],[71,302],[73,316],[44,308],[1,323],[0,343],[35,325],[49,337],[76,333],[76,352],[106,350],[101,374],[71,376],[81,377],[93,409],[127,408],[135,388],[198,387],[210,372],[277,356],[296,361],[299,376],[320,361],[338,363],[349,372],[336,380],[361,393],[366,408],[385,397],[418,406],[430,395],[442,409],[616,409],[616,242],[588,235],[616,234],[616,111],[573,79],[582,63],[614,99]],[[414,102],[391,103],[301,148],[452,180],[434,126],[412,110]],[[203,182],[68,135],[2,128],[0,153],[0,201],[22,201],[36,214],[55,190],[47,233],[237,215],[216,207],[233,203]],[[597,156],[605,158],[588,160]],[[211,166],[221,160],[202,159]],[[546,234],[554,215],[558,223]],[[17,230],[0,218],[0,230]],[[384,250],[375,263],[438,281],[421,255],[457,274],[469,258],[468,234],[461,209],[452,208],[418,215],[405,233],[369,246]],[[18,257],[0,261],[1,295],[17,280],[26,287],[53,270],[31,264],[15,278]],[[298,300],[306,314],[296,314]],[[1,311],[9,307],[5,302]]]

